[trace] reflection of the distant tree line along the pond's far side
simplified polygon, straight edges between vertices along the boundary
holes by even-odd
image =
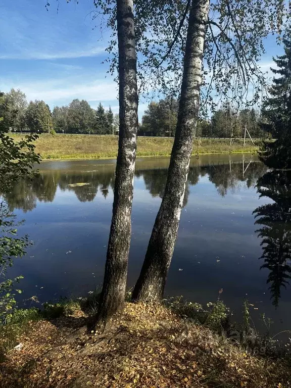
[[[147,168],[143,168],[146,165]],[[53,202],[56,191],[73,191],[80,202],[93,201],[98,190],[106,199],[109,189],[114,188],[114,165],[108,165],[101,170],[93,171],[61,171],[47,169],[40,171],[32,182],[21,181],[15,184],[13,191],[5,197],[10,209],[22,209],[24,212],[33,210],[40,202]],[[186,206],[190,186],[194,186],[199,179],[207,176],[215,185],[220,196],[224,197],[227,190],[234,193],[241,182],[247,187],[256,184],[258,177],[266,171],[266,167],[250,160],[248,163],[226,161],[220,164],[200,165],[200,161],[193,159],[189,168],[188,180],[185,188],[183,206]],[[151,166],[149,161],[137,164],[137,177],[142,177],[146,189],[152,197],[163,198],[167,181],[167,167]],[[89,183],[82,186],[70,186],[72,183]]]

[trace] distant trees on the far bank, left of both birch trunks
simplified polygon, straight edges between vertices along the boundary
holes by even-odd
[[[111,107],[106,111],[100,103],[96,110],[86,100],[73,100],[69,105],[56,106],[51,111],[44,101],[29,103],[20,89],[11,89],[4,94],[5,107],[0,106],[0,130],[15,132],[58,132],[84,134],[112,134],[118,126],[118,115]]]

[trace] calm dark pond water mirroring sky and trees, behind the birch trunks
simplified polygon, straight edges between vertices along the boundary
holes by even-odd
[[[129,286],[146,253],[168,162],[140,158],[136,163]],[[25,218],[20,231],[35,242],[13,268],[24,275],[25,299],[35,295],[42,303],[81,296],[101,284],[114,170],[114,160],[44,162],[34,182],[15,186],[7,201]],[[291,271],[291,177],[266,172],[251,155],[191,160],[166,294],[205,304],[216,300],[223,288],[221,297],[235,315],[247,297],[256,324],[265,313],[277,332],[291,328],[286,283]],[[88,184],[70,186],[74,183]],[[259,198],[260,193],[265,197]]]

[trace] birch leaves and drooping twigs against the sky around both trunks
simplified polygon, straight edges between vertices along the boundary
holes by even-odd
[[[111,28],[108,47],[110,70],[116,70],[118,51],[115,0],[96,0],[94,17]],[[134,2],[136,50],[140,91],[178,97],[185,51],[190,0],[136,0]],[[265,77],[259,61],[264,39],[280,35],[289,17],[285,0],[219,0],[211,2],[207,23],[201,113],[217,109],[221,99],[236,104],[257,102]]]

